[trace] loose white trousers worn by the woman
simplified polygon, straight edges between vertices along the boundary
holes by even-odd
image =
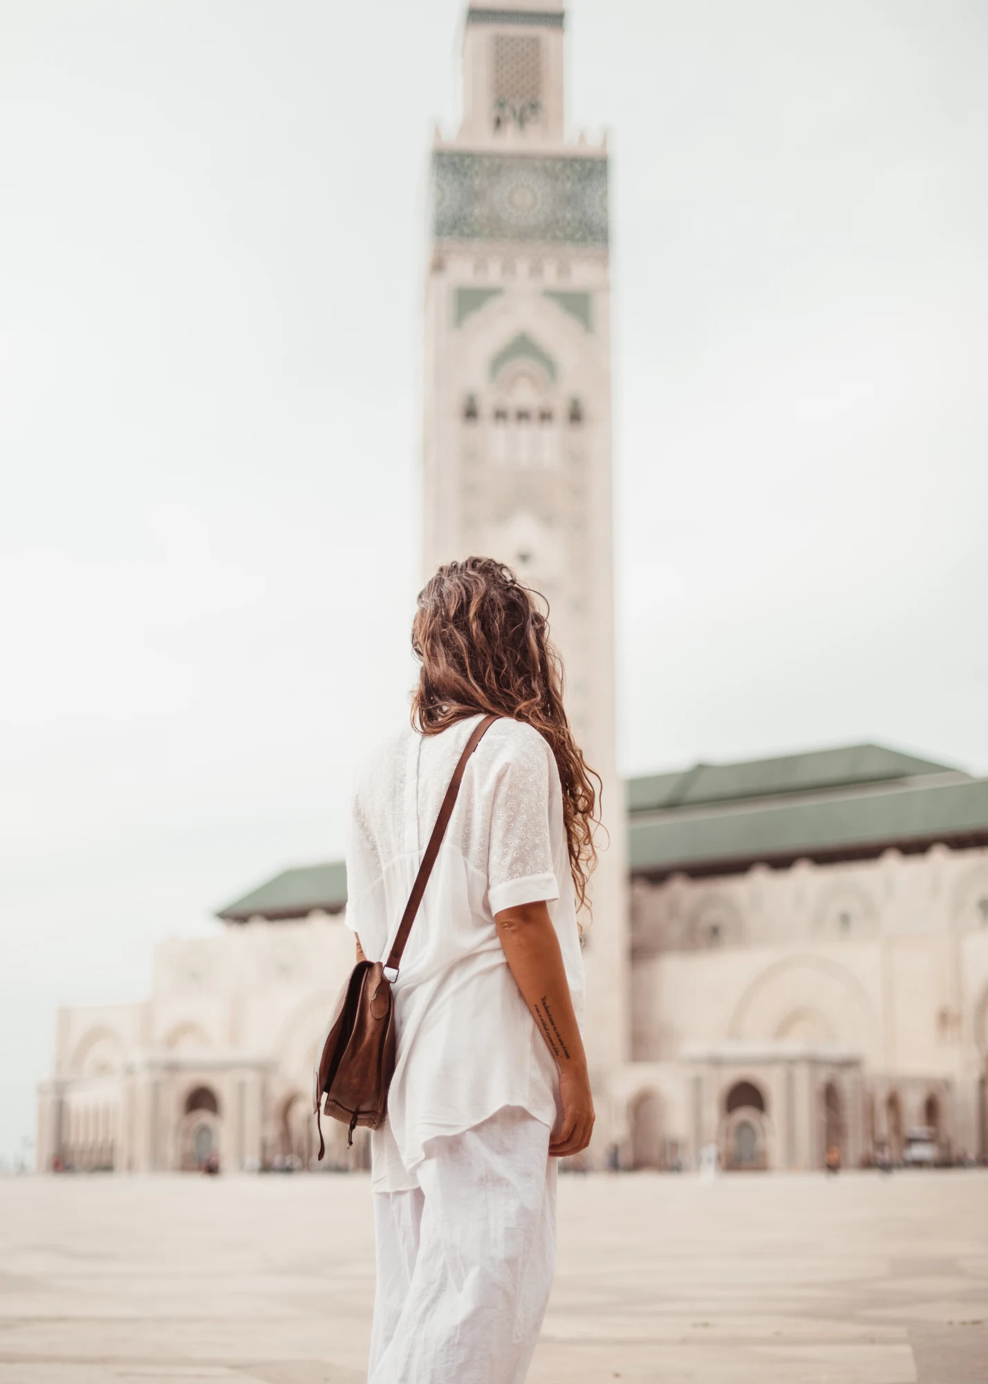
[[[556,1266],[549,1131],[508,1107],[374,1194],[368,1384],[523,1384]]]

